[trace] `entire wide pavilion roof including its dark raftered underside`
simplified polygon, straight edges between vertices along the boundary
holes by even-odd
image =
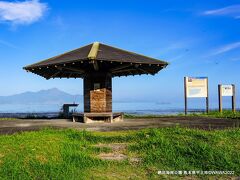
[[[167,62],[95,42],[64,54],[24,67],[50,78],[84,78],[90,72],[109,72],[114,76],[156,74]]]

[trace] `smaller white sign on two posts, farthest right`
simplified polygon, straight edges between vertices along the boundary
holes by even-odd
[[[222,112],[222,97],[230,96],[232,97],[232,111],[236,110],[236,95],[235,95],[235,85],[218,85],[218,102],[219,102],[219,112]]]

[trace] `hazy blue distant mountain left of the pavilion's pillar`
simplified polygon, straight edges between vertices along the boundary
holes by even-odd
[[[57,88],[38,92],[24,92],[12,96],[0,96],[0,104],[64,104],[80,103],[82,95],[71,95]]]

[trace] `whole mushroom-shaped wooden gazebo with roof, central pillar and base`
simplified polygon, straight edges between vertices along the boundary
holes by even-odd
[[[111,47],[99,42],[75,49],[24,67],[25,70],[51,78],[83,78],[84,113],[88,119],[110,121],[112,113],[112,77],[158,73],[167,62]],[[91,118],[93,117],[93,118]]]

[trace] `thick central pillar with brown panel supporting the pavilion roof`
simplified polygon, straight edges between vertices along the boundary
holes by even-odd
[[[84,77],[84,112],[112,112],[112,77],[94,72]]]

